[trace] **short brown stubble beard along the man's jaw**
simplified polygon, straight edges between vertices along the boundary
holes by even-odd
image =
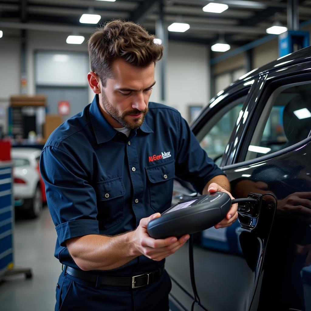
[[[108,101],[106,95],[104,92],[101,93],[102,97],[102,104],[105,109],[105,111],[109,114],[111,118],[113,118],[115,121],[120,123],[124,128],[128,128],[130,130],[136,130],[137,128],[142,126],[142,123],[144,123],[145,116],[148,112],[148,107],[146,107],[144,110],[138,110],[133,109],[131,111],[123,112],[123,114],[119,114],[118,110]],[[131,114],[142,114],[140,118],[132,119],[133,123],[130,123],[125,120],[125,117]]]

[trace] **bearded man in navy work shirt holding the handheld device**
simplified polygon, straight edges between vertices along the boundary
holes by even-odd
[[[164,258],[189,239],[152,239],[173,178],[229,191],[180,114],[148,103],[163,47],[142,27],[111,21],[89,39],[93,102],[57,128],[40,160],[63,263],[56,310],[168,310]],[[217,228],[237,218],[231,207]]]

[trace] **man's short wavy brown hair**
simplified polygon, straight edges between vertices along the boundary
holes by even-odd
[[[111,64],[122,58],[127,63],[146,67],[163,56],[163,46],[154,43],[154,35],[129,21],[113,20],[97,29],[88,40],[91,70],[103,84],[111,78]]]

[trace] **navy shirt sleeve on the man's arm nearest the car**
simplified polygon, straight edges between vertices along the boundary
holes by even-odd
[[[179,128],[179,145],[175,162],[177,177],[190,182],[193,187],[202,193],[204,186],[213,177],[225,175],[224,172],[207,156],[199,142],[180,116],[177,117]]]

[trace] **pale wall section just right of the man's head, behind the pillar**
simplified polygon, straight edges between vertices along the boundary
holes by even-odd
[[[205,106],[210,99],[208,58],[208,48],[205,46],[169,42],[165,104],[178,109],[188,121],[189,106]],[[159,69],[156,68],[158,81],[160,81]],[[160,83],[155,86],[151,100],[161,102],[159,86]]]

